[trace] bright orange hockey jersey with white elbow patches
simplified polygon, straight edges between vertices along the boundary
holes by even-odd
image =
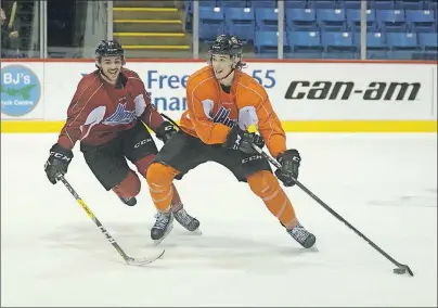
[[[222,90],[212,68],[192,74],[186,84],[188,110],[181,129],[204,143],[226,142],[231,127],[255,125],[272,156],[286,150],[286,137],[263,87],[242,70],[234,70],[230,93]]]

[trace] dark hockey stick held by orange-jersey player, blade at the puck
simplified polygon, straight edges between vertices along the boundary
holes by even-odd
[[[270,155],[268,155],[266,152],[263,152],[259,146],[256,144],[253,144],[254,150],[256,150],[261,156],[263,156],[266,159],[268,159],[269,163],[271,163],[273,166],[276,168],[281,168],[281,164],[276,162],[274,158],[272,158]],[[381,247],[378,247],[376,244],[374,244],[370,239],[368,239],[363,233],[361,233],[358,229],[356,229],[351,223],[349,223],[347,220],[345,220],[339,214],[337,214],[335,210],[333,210],[327,204],[325,204],[322,200],[320,200],[318,196],[315,196],[310,190],[308,190],[304,184],[301,184],[297,179],[292,178],[295,184],[300,188],[302,191],[305,191],[309,196],[311,196],[315,202],[318,202],[322,207],[324,207],[326,210],[328,210],[334,217],[336,217],[338,220],[344,222],[349,229],[355,231],[356,234],[358,234],[360,238],[365,240],[374,249],[376,249],[381,255],[383,255],[385,258],[387,258],[389,261],[391,261],[394,265],[397,266],[396,269],[394,269],[394,273],[397,274],[403,274],[407,271],[411,277],[414,275],[412,270],[409,268],[408,265],[402,265],[398,262],[396,259],[394,259],[391,256],[389,256],[387,253],[385,253]]]

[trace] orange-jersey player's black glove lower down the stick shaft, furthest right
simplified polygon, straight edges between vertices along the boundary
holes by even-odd
[[[292,178],[298,178],[298,168],[301,157],[297,150],[286,150],[284,153],[276,156],[276,161],[282,165],[275,170],[275,176],[283,182],[285,187],[295,185]]]

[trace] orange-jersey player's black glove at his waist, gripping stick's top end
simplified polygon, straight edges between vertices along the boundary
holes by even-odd
[[[239,125],[235,125],[228,133],[226,143],[223,143],[223,145],[231,150],[254,154],[257,152],[253,149],[253,143],[260,149],[265,146],[265,141],[260,136],[243,130],[239,127]]]

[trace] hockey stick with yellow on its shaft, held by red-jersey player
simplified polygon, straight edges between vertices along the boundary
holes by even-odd
[[[117,253],[120,254],[120,256],[125,259],[125,261],[129,266],[144,266],[144,265],[147,265],[147,264],[151,264],[151,262],[155,261],[156,259],[160,258],[164,255],[165,249],[163,249],[163,252],[160,252],[158,255],[156,255],[154,257],[150,257],[150,258],[147,258],[147,257],[145,257],[145,258],[132,258],[132,257],[129,257],[124,252],[124,249],[121,249],[121,247],[117,244],[116,240],[114,240],[114,238],[111,236],[110,232],[106,231],[106,229],[99,221],[98,217],[94,216],[94,214],[91,211],[91,209],[87,206],[87,204],[82,201],[82,198],[76,193],[76,191],[72,188],[72,185],[64,178],[64,176],[60,174],[60,175],[56,176],[56,178],[64,183],[64,185],[72,193],[72,195],[76,198],[76,201],[80,204],[80,206],[83,208],[83,210],[87,211],[88,217],[90,217],[91,220],[95,223],[95,226],[98,226],[98,228],[105,235],[106,240],[108,240],[108,242],[113,245],[114,248],[116,248]]]

